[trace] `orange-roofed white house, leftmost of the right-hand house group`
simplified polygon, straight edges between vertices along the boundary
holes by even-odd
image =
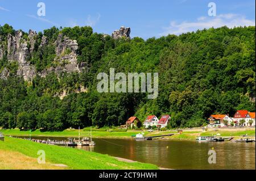
[[[233,121],[233,119],[228,115],[210,115],[210,117],[208,118],[208,127],[225,127],[226,125],[224,120],[227,121],[228,125],[230,125]]]

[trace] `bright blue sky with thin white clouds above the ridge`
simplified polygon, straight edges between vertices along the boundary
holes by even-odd
[[[38,16],[39,2],[46,16]],[[216,16],[208,15],[208,3],[216,3]],[[16,30],[42,31],[52,26],[92,26],[94,32],[111,34],[121,26],[131,37],[159,37],[221,26],[255,26],[254,0],[0,0],[0,24]]]

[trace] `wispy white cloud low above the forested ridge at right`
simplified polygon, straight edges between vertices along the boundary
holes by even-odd
[[[202,16],[197,18],[195,22],[176,23],[172,21],[170,26],[164,27],[164,32],[160,35],[175,34],[203,30],[204,28],[218,28],[227,26],[229,28],[238,26],[255,26],[255,20],[246,19],[245,16],[238,14],[221,14],[217,16]]]

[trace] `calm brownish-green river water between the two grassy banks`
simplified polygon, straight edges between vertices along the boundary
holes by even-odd
[[[36,138],[67,140],[63,137]],[[93,141],[96,146],[79,149],[153,163],[169,169],[255,169],[255,142],[135,141],[113,138],[93,138]],[[208,151],[212,148],[216,151],[216,164],[208,163]]]

